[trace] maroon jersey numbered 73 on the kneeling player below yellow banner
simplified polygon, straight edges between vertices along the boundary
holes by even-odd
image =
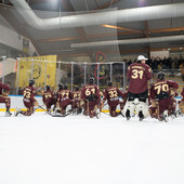
[[[35,98],[36,89],[34,87],[26,87],[23,90],[23,101],[26,103],[34,103],[36,102]]]

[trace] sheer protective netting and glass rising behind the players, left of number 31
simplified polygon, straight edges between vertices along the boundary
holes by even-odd
[[[58,11],[50,12],[19,2],[12,1],[14,6],[0,5],[0,56],[5,56],[0,62],[1,81],[11,86],[12,94],[21,94],[29,79],[35,79],[40,90],[47,84],[56,90],[61,82],[73,90],[87,84],[91,76],[101,89],[109,80],[124,89],[126,65],[116,42],[115,9],[62,12],[61,5]],[[113,44],[106,45],[107,41]],[[55,65],[51,66],[49,63],[53,62]]]

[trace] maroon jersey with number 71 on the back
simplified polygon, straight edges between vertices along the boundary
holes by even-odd
[[[71,103],[73,94],[70,90],[61,90],[57,92],[57,102],[61,106],[67,106]]]

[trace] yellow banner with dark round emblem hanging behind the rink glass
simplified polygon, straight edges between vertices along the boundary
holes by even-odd
[[[36,87],[55,86],[56,55],[21,57],[18,67],[18,87],[28,86],[28,81],[36,81]],[[16,74],[17,79],[17,74]]]

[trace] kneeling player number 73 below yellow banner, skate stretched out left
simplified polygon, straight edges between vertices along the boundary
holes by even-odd
[[[23,111],[21,109],[16,109],[15,116],[17,116],[18,114],[22,114],[24,116],[30,116],[31,114],[34,114],[34,106],[38,106],[38,102],[35,98],[36,92],[37,91],[35,89],[35,80],[29,80],[29,86],[24,88],[23,90],[23,103],[27,110]]]

